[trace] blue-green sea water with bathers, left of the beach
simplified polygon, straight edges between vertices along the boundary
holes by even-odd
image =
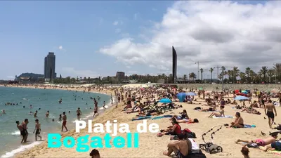
[[[66,91],[56,89],[40,88],[13,88],[0,87],[0,110],[5,110],[6,114],[0,116],[0,157],[13,157],[18,152],[34,147],[43,141],[35,141],[33,133],[35,119],[41,123],[41,136],[46,140],[50,132],[61,132],[61,122],[58,121],[59,115],[66,112],[67,129],[74,129],[77,120],[77,108],[82,112],[81,119],[93,119],[93,100],[91,98],[100,98],[98,107],[103,107],[103,102],[110,107],[111,96],[102,93],[88,93],[81,91]],[[62,99],[61,104],[58,100]],[[15,105],[5,105],[13,103]],[[32,105],[32,108],[30,108]],[[37,118],[34,118],[30,112],[38,111]],[[46,112],[50,115],[46,118]],[[99,110],[99,113],[103,110]],[[27,140],[29,142],[21,144],[22,137],[15,121],[28,119],[27,131],[29,133]],[[53,120],[54,119],[54,120]],[[65,131],[65,129],[64,129]],[[39,139],[39,138],[38,138]]]

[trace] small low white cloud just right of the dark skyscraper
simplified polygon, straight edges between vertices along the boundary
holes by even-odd
[[[93,72],[91,70],[75,70],[73,67],[63,67],[62,68],[62,76],[71,76],[71,77],[98,77],[99,74]]]

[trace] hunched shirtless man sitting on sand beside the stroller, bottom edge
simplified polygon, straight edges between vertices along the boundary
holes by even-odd
[[[181,157],[183,158],[188,157],[188,150],[191,147],[191,143],[184,138],[185,136],[183,134],[179,134],[178,141],[169,143],[167,145],[168,151],[163,152],[163,154],[170,157],[171,153],[174,152],[175,154],[181,154]]]

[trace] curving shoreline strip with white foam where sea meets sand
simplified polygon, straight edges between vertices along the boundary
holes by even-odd
[[[1,86],[1,87],[7,87],[7,88],[30,88],[30,89],[35,89],[35,88],[40,88],[40,89],[43,89],[44,90],[44,87],[36,87],[36,86]],[[65,89],[65,88],[53,88],[53,87],[46,87],[46,89],[51,89],[51,90],[63,90],[63,91],[69,91],[68,89]],[[71,89],[70,91],[79,91],[79,92],[83,92],[83,90],[81,88],[79,89]],[[107,94],[107,92],[110,92],[110,91],[85,91],[85,93],[95,93],[97,96],[98,94],[103,94],[103,95],[106,95],[106,96],[109,96],[109,94]],[[113,103],[116,102],[116,98],[112,96],[112,100],[113,100]],[[111,100],[109,98],[109,100],[106,101],[107,102],[107,110],[110,110],[112,109],[113,106],[111,106]],[[102,107],[102,106],[101,106]],[[99,107],[100,108],[100,107]],[[84,121],[88,121],[89,119],[96,119],[100,116],[103,116],[103,114],[105,113],[105,110],[99,110],[99,114],[98,116],[96,116],[95,118],[93,118],[93,112],[90,112],[90,113],[87,113],[85,117],[81,118],[81,120],[84,120]],[[76,119],[75,119],[76,121]],[[75,121],[70,121],[70,125],[68,126],[71,130],[67,131],[67,132],[70,132],[70,131],[75,131]],[[32,138],[32,140],[27,143],[27,144],[24,144],[24,145],[20,145],[18,146],[17,148],[11,150],[11,151],[8,151],[2,155],[0,155],[1,157],[17,157],[18,154],[22,153],[22,152],[25,152],[27,150],[30,150],[32,149],[32,147],[36,147],[37,145],[41,145],[42,143],[46,142],[47,141],[47,137],[48,137],[48,133],[56,133],[55,131],[56,128],[54,127],[53,129],[51,129],[51,131],[48,131],[44,134],[42,134],[41,136],[44,138],[44,140],[42,141],[35,141],[34,138]],[[57,133],[61,133],[60,131],[57,132]],[[66,133],[66,132],[63,132],[63,133]]]

